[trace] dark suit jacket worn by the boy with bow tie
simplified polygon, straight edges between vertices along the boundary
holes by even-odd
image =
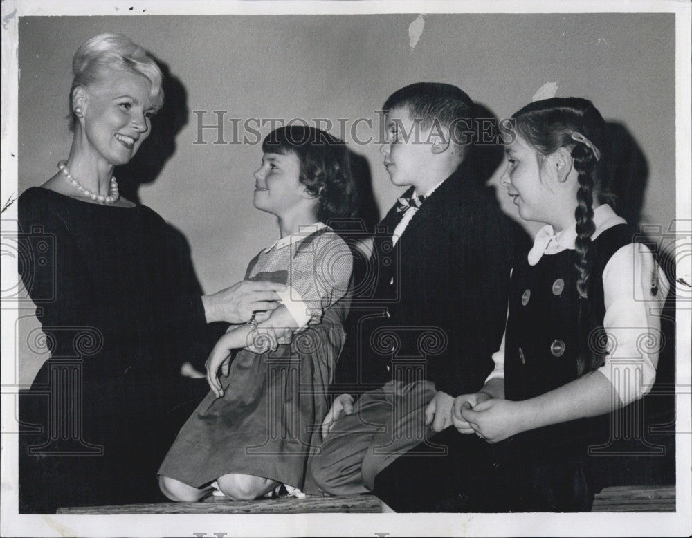
[[[332,392],[362,392],[392,376],[423,377],[453,396],[475,392],[502,340],[517,225],[464,164],[392,249],[400,219],[392,207],[375,236],[374,293],[354,294]]]

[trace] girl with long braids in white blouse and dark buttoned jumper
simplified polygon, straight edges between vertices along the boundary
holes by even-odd
[[[651,312],[666,286],[650,250],[601,203],[601,114],[585,99],[552,98],[513,119],[502,185],[522,219],[546,225],[514,264],[495,369],[479,392],[455,398],[455,428],[431,440],[448,454],[419,445],[380,472],[384,508],[590,511],[594,434],[655,380],[660,320]]]

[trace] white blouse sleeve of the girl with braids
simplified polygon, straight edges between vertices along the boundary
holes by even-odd
[[[658,312],[668,293],[660,275],[653,254],[639,243],[615,252],[603,271],[603,327],[612,349],[598,370],[623,405],[646,395],[656,378],[662,344]]]

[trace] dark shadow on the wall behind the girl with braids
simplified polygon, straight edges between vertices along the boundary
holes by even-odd
[[[662,274],[659,280],[668,281],[670,292],[659,314],[661,344],[655,383],[641,402],[619,411],[625,429],[607,430],[607,438],[595,447],[593,459],[601,486],[655,485],[675,483],[675,283],[674,234],[668,233],[671,223],[653,222],[641,225],[641,210],[648,184],[649,167],[644,151],[632,133],[617,122],[608,123],[608,156],[603,163],[603,189],[608,192],[603,201],[612,205],[634,230],[635,241],[653,251]],[[655,227],[660,226],[660,233]],[[661,293],[652,282],[652,291]],[[623,418],[623,417],[626,417]],[[632,421],[635,421],[632,423]],[[614,423],[613,423],[614,424]]]

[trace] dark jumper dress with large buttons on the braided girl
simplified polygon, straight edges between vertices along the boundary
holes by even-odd
[[[616,225],[592,243],[593,343],[603,343],[603,270],[631,241],[630,228]],[[515,266],[505,333],[508,400],[533,398],[578,377],[578,302],[574,250],[543,256],[536,266],[523,257]],[[521,432],[494,445],[450,427],[432,438],[449,447],[448,455],[417,454],[425,447],[416,447],[376,477],[374,492],[397,512],[590,511],[587,450],[604,417]]]

